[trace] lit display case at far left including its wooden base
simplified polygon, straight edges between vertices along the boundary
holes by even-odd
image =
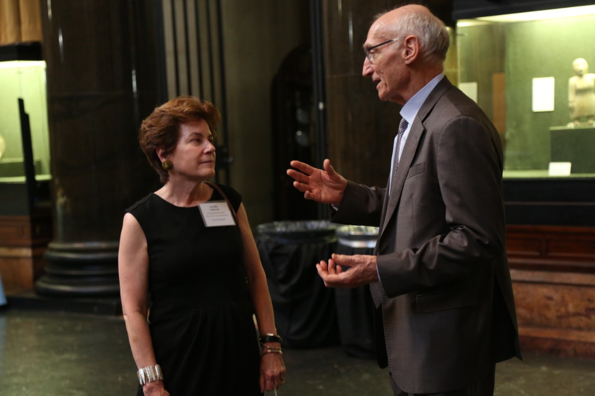
[[[31,290],[52,238],[46,66],[39,42],[0,46],[0,273]]]

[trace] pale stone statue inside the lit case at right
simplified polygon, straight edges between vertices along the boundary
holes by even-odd
[[[574,76],[568,79],[568,109],[572,122],[568,126],[595,126],[595,74],[583,58],[572,62]]]

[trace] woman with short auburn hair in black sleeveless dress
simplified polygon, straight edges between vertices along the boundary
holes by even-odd
[[[120,237],[138,395],[261,395],[284,383],[281,338],[242,197],[207,181],[220,119],[211,103],[179,97],[140,128],[164,186],[126,210]]]

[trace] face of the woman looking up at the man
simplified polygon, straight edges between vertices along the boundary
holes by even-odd
[[[180,137],[168,156],[173,163],[171,176],[206,180],[215,176],[215,146],[208,123],[200,119],[180,125]]]

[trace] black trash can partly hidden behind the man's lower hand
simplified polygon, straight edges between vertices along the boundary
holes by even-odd
[[[337,228],[338,254],[373,254],[378,227],[340,226]],[[349,267],[343,266],[349,271]],[[336,289],[337,318],[343,350],[362,359],[375,359],[374,302],[369,286]]]

